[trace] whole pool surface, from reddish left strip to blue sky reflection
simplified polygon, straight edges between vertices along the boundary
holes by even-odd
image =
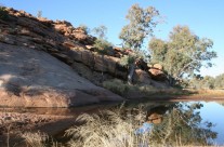
[[[157,132],[164,132],[172,125],[173,134],[184,142],[205,141],[213,145],[224,145],[224,102],[132,102],[124,109],[142,105],[149,116],[161,116],[155,124]],[[103,109],[120,107],[121,104],[104,104],[77,108],[0,108],[6,111],[34,112],[39,115],[79,116],[82,112],[97,112]],[[147,118],[147,117],[146,117]],[[168,122],[171,122],[168,124]],[[69,128],[69,126],[68,126]],[[189,135],[194,132],[193,135]],[[172,142],[173,138],[170,138]],[[195,139],[195,141],[192,141]]]

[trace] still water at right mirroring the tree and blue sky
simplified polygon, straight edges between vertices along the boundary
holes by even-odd
[[[155,122],[149,121],[155,141],[162,136],[170,145],[179,141],[197,146],[224,145],[224,102],[144,102],[137,105],[145,106],[147,117],[156,118]]]

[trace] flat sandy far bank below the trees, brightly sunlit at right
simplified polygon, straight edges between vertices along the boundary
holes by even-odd
[[[224,101],[224,90],[162,89],[130,91],[128,101]]]

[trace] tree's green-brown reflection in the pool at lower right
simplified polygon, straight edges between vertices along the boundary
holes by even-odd
[[[164,106],[167,110],[162,113],[161,123],[153,123],[149,144],[210,145],[218,133],[211,131],[214,126],[212,122],[202,122],[199,112],[202,106],[200,103],[174,103]],[[150,110],[149,113],[154,112],[157,111]]]

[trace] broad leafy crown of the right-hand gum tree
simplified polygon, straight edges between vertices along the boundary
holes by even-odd
[[[169,41],[151,39],[149,50],[151,61],[160,63],[167,71],[170,83],[193,77],[202,66],[211,67],[211,59],[216,57],[210,39],[194,35],[187,26],[176,26],[170,32]]]

